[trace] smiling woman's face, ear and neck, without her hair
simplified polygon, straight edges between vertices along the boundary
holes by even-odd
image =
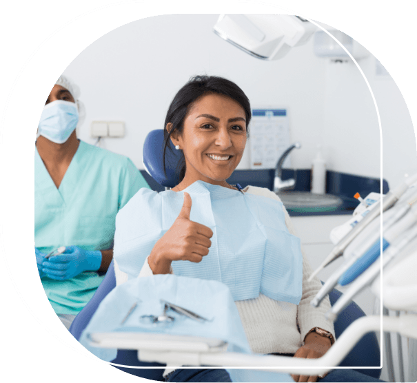
[[[188,186],[203,180],[226,186],[225,180],[241,162],[246,140],[243,107],[227,96],[202,96],[185,117],[182,134],[172,137],[185,156],[183,183]]]

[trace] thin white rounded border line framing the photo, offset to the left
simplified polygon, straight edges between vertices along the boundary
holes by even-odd
[[[207,1],[207,0],[205,0]],[[365,83],[369,89],[369,92],[371,93],[372,96],[372,100],[374,101],[374,105],[375,105],[375,109],[376,109],[376,115],[378,117],[378,126],[379,126],[379,131],[380,131],[380,179],[383,179],[383,134],[382,134],[382,125],[381,125],[381,121],[380,121],[380,113],[378,110],[378,105],[376,104],[376,99],[374,96],[374,92],[372,92],[372,88],[371,85],[369,85],[369,81],[367,80],[367,77],[365,76],[365,74],[363,73],[363,70],[360,68],[360,66],[358,65],[358,63],[356,62],[356,60],[354,59],[354,57],[352,56],[352,54],[345,48],[345,46],[340,43],[340,41],[338,41],[338,39],[336,39],[336,37],[334,37],[329,31],[325,30],[325,28],[323,28],[321,25],[319,25],[318,23],[316,23],[316,21],[309,19],[308,17],[305,17],[303,14],[298,13],[298,12],[294,12],[293,10],[290,10],[288,8],[282,7],[282,6],[278,6],[276,4],[272,4],[272,3],[265,3],[263,1],[250,1],[250,0],[230,0],[234,3],[255,3],[255,4],[259,4],[259,5],[263,5],[263,6],[269,6],[272,8],[278,8],[281,10],[285,10],[286,12],[291,12],[292,14],[296,14],[297,16],[303,17],[305,19],[307,19],[309,22],[313,23],[314,25],[316,25],[316,27],[320,28],[321,30],[323,30],[325,33],[327,33],[329,35],[329,37],[331,37],[332,39],[334,39],[334,41],[336,41],[336,43],[338,43],[338,45],[340,45],[340,47],[349,55],[350,59],[352,59],[352,61],[355,63],[356,67],[358,68],[360,74],[363,76],[363,79],[365,80]],[[138,1],[138,0],[131,0],[131,1],[119,1],[118,3],[111,3],[111,4],[107,4],[105,6],[101,6],[98,8],[94,8],[93,10],[90,10],[88,12],[84,12],[83,14],[80,14],[77,17],[74,17],[74,19],[71,19],[70,21],[68,21],[67,23],[61,25],[61,27],[59,27],[57,30],[55,30],[54,32],[52,32],[52,34],[50,34],[45,40],[42,41],[42,43],[32,52],[32,54],[30,54],[30,56],[28,57],[28,59],[26,60],[26,62],[23,64],[21,70],[19,70],[19,73],[16,76],[16,79],[14,79],[13,84],[12,84],[12,88],[10,89],[10,92],[8,94],[8,98],[6,100],[6,105],[4,107],[3,110],[3,116],[1,118],[1,138],[0,138],[0,145],[3,146],[3,127],[4,127],[4,121],[6,118],[6,112],[7,112],[7,108],[10,102],[10,98],[12,96],[12,93],[14,91],[14,87],[16,87],[17,81],[19,80],[21,74],[23,73],[23,70],[26,69],[26,67],[28,66],[28,63],[30,63],[30,60],[32,60],[32,58],[34,57],[35,54],[37,54],[37,52],[43,47],[43,45],[45,45],[45,43],[47,43],[52,37],[54,37],[55,34],[57,34],[59,31],[63,30],[63,28],[65,28],[67,25],[70,25],[71,23],[73,23],[74,21],[77,21],[78,19],[81,19],[81,17],[87,16],[90,13],[99,11],[99,10],[103,10],[105,8],[110,8],[110,7],[114,7],[114,6],[121,6],[124,4],[129,4],[129,3],[146,3],[147,1]],[[154,1],[154,2],[165,2],[165,1]],[[194,2],[194,1],[186,1],[186,2]],[[208,0],[207,2],[212,2],[212,3],[221,3],[223,1],[221,0]],[[382,185],[382,181],[380,183],[380,194],[383,194],[383,185]],[[383,211],[382,211],[382,204],[381,204],[381,211],[380,211],[380,216],[383,215]],[[381,224],[380,224],[380,232],[381,232],[381,241],[382,241],[382,220],[381,220]],[[45,326],[45,324],[43,324],[43,322],[41,322],[41,320],[39,320],[39,318],[37,317],[37,315],[34,314],[34,312],[32,311],[32,309],[30,309],[29,305],[26,303],[26,300],[23,298],[23,296],[21,295],[21,292],[19,291],[16,282],[14,282],[14,278],[12,276],[12,273],[10,271],[10,267],[6,258],[6,251],[4,249],[4,242],[3,242],[3,225],[1,225],[0,228],[0,236],[1,236],[1,247],[3,249],[3,258],[4,258],[4,262],[6,264],[6,269],[8,271],[8,275],[10,280],[12,281],[14,290],[16,291],[17,295],[19,296],[20,300],[23,302],[24,306],[26,307],[26,309],[29,311],[30,315],[32,315],[32,317],[37,320],[37,322],[39,324],[41,324],[41,326],[43,327],[43,329],[45,329],[45,331],[47,331],[50,335],[52,335],[52,337],[54,337],[56,340],[58,340],[59,342],[61,342],[61,344],[67,346],[69,349],[71,349],[72,351],[75,351],[76,353],[79,353],[80,355],[85,356],[86,358],[90,358],[91,360],[95,360],[96,362],[100,362],[103,364],[109,364],[110,366],[115,366],[115,367],[124,367],[124,368],[129,368],[129,369],[165,369],[166,367],[144,367],[144,366],[125,366],[124,364],[114,364],[111,362],[106,362],[105,360],[101,360],[99,358],[96,358],[94,356],[88,355],[86,353],[84,353],[83,351],[80,351],[79,349],[76,349],[74,346],[71,346],[70,344],[68,344],[67,342],[65,342],[64,340],[62,340],[61,338],[59,338],[59,336],[55,335],[55,333],[53,333],[52,331],[50,331],[50,329],[48,327]],[[382,245],[381,245],[381,249],[382,249]],[[382,269],[381,269],[381,277],[382,277]],[[383,278],[380,278],[380,284],[381,284],[381,288],[380,291],[382,293],[383,289],[382,289],[382,280]],[[382,296],[381,296],[381,311],[382,313]],[[383,315],[380,315],[380,340],[381,340],[381,349],[383,350]],[[383,367],[383,352],[381,351],[380,353],[380,366],[376,367],[376,366],[368,366],[368,367],[340,367],[340,366],[332,366],[332,367],[328,367],[329,369],[381,369]],[[194,367],[185,367],[185,366],[170,366],[170,368],[182,368],[182,369],[192,369]],[[210,367],[213,368],[213,367]],[[260,367],[261,368],[261,367]],[[311,367],[299,367],[300,369],[307,369],[307,368],[311,368]],[[317,367],[320,369],[323,368],[327,368],[327,367]],[[253,369],[252,367],[242,367],[242,366],[234,366],[234,367],[225,367],[225,366],[221,366],[218,367],[218,369]],[[268,369],[285,369],[285,367],[283,366],[278,366],[275,368],[272,367],[268,367]]]

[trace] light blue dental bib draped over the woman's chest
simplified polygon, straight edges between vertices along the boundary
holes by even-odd
[[[190,219],[210,227],[212,247],[200,263],[172,262],[177,276],[217,280],[234,300],[258,298],[299,304],[303,289],[301,241],[289,234],[283,204],[277,200],[196,181]],[[184,194],[141,189],[116,218],[114,258],[136,278],[155,243],[170,229]]]

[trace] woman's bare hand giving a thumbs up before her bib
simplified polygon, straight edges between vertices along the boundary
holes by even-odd
[[[184,193],[184,204],[174,224],[156,242],[148,257],[148,263],[154,274],[168,274],[173,260],[189,260],[199,263],[207,256],[212,246],[210,227],[190,220],[192,200]]]

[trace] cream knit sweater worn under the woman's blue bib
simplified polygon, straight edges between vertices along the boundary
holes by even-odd
[[[248,186],[244,191],[280,200],[272,191],[261,187]],[[285,225],[289,233],[296,236],[285,207],[283,210]],[[301,251],[303,253],[303,296],[298,306],[288,302],[278,302],[263,294],[258,298],[236,302],[247,340],[254,353],[295,353],[302,346],[305,335],[314,327],[320,327],[335,336],[333,323],[325,319],[325,313],[330,309],[329,298],[323,300],[318,308],[310,306],[311,300],[321,289],[321,282],[318,278],[307,282],[312,273],[312,267],[305,258],[303,248]],[[126,282],[128,275],[119,270],[116,262],[114,262],[114,267],[117,285]],[[139,273],[139,278],[152,275],[147,258]]]

